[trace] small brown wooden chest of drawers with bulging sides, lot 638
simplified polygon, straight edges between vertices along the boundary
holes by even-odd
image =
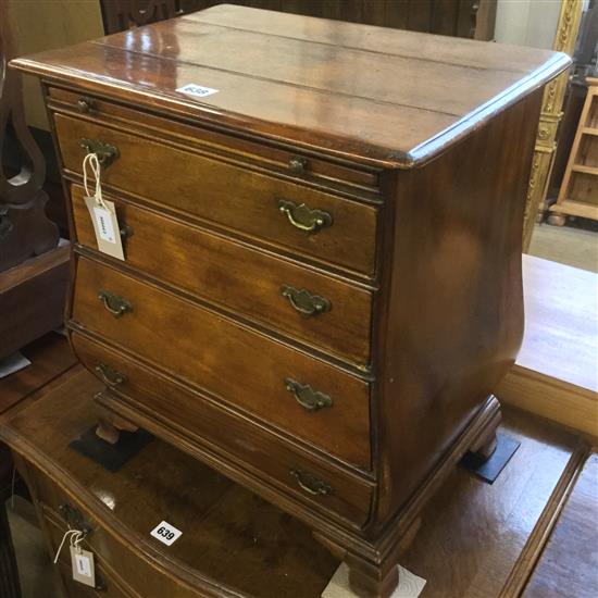
[[[390,594],[421,506],[491,447],[543,87],[568,64],[231,5],[13,61],[46,91],[98,401]],[[98,251],[87,152],[124,261]]]

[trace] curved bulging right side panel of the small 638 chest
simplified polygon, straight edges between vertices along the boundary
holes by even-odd
[[[383,471],[400,475],[381,496],[381,521],[422,483],[515,360],[523,304],[521,231],[513,223],[523,217],[535,135],[528,124],[540,96],[530,96],[445,153],[434,171],[398,178],[388,259],[388,275],[397,283],[385,286],[388,311],[375,338],[384,339],[383,359],[393,372],[383,378],[379,459]],[[451,205],[448,182],[459,197]],[[407,396],[409,401],[397,400]]]

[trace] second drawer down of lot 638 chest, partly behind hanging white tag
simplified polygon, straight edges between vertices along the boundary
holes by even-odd
[[[71,195],[77,240],[96,249],[83,188],[74,185]],[[369,363],[370,291],[110,199],[120,224],[133,231],[125,241],[130,266],[350,362]]]

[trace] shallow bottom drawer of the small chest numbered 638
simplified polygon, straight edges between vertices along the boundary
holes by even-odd
[[[103,344],[78,333],[72,333],[71,341],[78,358],[96,375],[98,366],[117,370],[124,377],[112,389],[161,426],[178,431],[200,452],[209,451],[212,458],[207,461],[211,466],[217,469],[220,458],[224,458],[227,465],[233,462],[239,470],[241,484],[247,484],[250,472],[253,477],[299,498],[310,510],[316,509],[358,527],[367,521],[373,482],[295,448],[258,424]],[[257,481],[251,487],[259,494],[262,486],[263,482]]]

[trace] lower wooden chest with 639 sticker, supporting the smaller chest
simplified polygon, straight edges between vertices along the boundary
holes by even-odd
[[[53,538],[49,550],[58,547],[58,530],[66,526],[57,508],[67,502],[92,523],[86,543],[111,591],[124,586],[133,588],[129,596],[144,598],[321,595],[339,561],[310,530],[184,452],[155,439],[122,470],[110,473],[70,449],[71,439],[94,424],[91,397],[100,388],[77,369],[32,409],[0,426],[2,439],[21,456],[20,466]],[[548,563],[555,562],[550,552],[559,537],[573,543],[569,549],[560,544],[572,557],[587,548],[574,541],[575,534],[563,536],[559,528],[568,520],[569,526],[580,516],[590,516],[574,502],[582,499],[583,507],[593,500],[585,491],[595,475],[591,465],[586,465],[583,485],[573,490],[552,535],[556,519],[547,518],[566,498],[587,447],[570,433],[514,409],[504,409],[502,432],[522,445],[497,482],[488,485],[453,469],[401,555],[401,564],[426,580],[423,598],[504,595],[514,570],[524,568],[530,574],[536,566],[536,560],[521,557],[531,541],[539,556],[550,537],[544,553]],[[149,536],[163,519],[183,531],[169,548]],[[54,528],[48,530],[50,525]],[[584,526],[585,534],[593,531],[590,524]],[[540,558],[532,581],[555,583],[553,575],[540,575],[544,562]],[[587,556],[575,562],[568,570],[569,583],[572,571],[588,562]],[[596,587],[593,573],[584,577],[589,589]],[[70,571],[63,570],[63,575]],[[85,596],[83,589],[77,594],[80,587],[71,585],[67,596]]]

